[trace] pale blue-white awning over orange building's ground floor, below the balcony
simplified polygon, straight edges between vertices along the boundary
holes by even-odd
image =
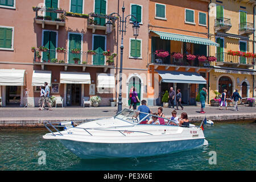
[[[207,84],[204,77],[196,72],[175,72],[175,71],[160,71],[156,70],[162,82],[168,83],[183,83],[183,84]]]

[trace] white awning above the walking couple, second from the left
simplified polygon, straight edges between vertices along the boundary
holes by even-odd
[[[32,76],[32,86],[41,86],[44,85],[44,82],[47,82],[48,85],[51,85],[52,72],[43,71],[43,70],[34,70]]]

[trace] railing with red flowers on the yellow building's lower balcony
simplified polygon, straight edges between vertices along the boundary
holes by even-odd
[[[227,52],[216,53],[217,62],[237,63],[237,64],[254,64],[253,57],[243,57],[236,55],[229,55]]]

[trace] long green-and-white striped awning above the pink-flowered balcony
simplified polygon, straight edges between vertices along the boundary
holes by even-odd
[[[175,40],[175,41],[189,42],[189,43],[195,43],[195,44],[204,44],[207,46],[217,46],[217,47],[219,46],[218,43],[213,42],[212,40],[199,38],[196,36],[173,34],[168,32],[159,32],[159,31],[152,31],[152,32],[159,35],[160,39],[164,39],[164,40]]]

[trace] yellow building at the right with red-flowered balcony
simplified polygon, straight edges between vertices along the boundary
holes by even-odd
[[[254,53],[254,5],[256,2],[251,0],[209,4],[210,40],[220,44],[209,48],[209,55],[217,57],[210,71],[209,99],[215,96],[214,90],[222,93],[224,89],[228,97],[236,89],[241,97],[255,96],[254,58],[238,56],[241,52]]]

